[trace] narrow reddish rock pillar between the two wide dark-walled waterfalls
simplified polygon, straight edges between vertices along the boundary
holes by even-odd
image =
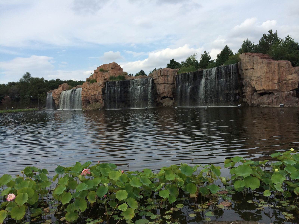
[[[152,77],[157,89],[157,105],[172,106],[174,102],[175,81],[178,69],[162,68],[153,71]]]

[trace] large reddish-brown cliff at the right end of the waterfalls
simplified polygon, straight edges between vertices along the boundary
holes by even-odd
[[[261,53],[240,54],[244,101],[250,106],[299,106],[299,69]]]

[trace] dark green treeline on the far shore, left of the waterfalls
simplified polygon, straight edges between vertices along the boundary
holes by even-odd
[[[45,80],[44,78],[32,77],[27,72],[19,82],[0,84],[0,109],[45,106],[49,90],[57,89],[63,83],[68,83],[74,87],[82,85],[83,82],[60,79]]]

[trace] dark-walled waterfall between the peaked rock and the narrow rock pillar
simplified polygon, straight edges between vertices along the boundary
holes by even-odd
[[[153,79],[105,82],[105,109],[154,106]]]

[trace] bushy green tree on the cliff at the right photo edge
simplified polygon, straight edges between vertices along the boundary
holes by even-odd
[[[288,60],[293,66],[299,66],[299,44],[290,35],[283,41],[274,43],[269,54],[275,60]]]

